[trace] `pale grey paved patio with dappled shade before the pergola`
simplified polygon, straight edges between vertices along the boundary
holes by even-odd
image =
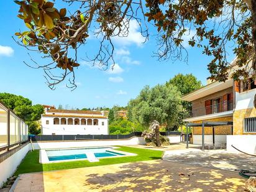
[[[256,171],[256,158],[244,153],[232,153],[226,150],[170,150],[163,155],[164,160],[209,168],[234,171],[245,169]]]

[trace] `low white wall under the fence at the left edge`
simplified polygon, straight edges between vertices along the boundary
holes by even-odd
[[[29,150],[30,144],[27,144],[25,147],[11,155],[11,157],[6,158],[6,160],[0,163],[0,187],[7,180],[7,178],[14,174],[16,168],[19,166],[22,159],[25,157],[27,152],[29,152]]]

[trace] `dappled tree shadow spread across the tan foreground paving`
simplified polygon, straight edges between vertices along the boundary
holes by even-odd
[[[86,175],[84,186],[98,191],[242,191],[244,182],[235,172],[157,160]]]

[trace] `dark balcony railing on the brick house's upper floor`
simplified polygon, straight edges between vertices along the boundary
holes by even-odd
[[[188,116],[186,116],[186,118],[206,116],[219,112],[231,111],[232,109],[233,101],[222,101],[221,103],[213,104],[211,106],[194,109],[188,113]]]

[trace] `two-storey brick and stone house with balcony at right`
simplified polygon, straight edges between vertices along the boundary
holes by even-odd
[[[216,122],[211,126],[204,126],[205,144],[227,144],[227,149],[235,145],[255,152],[255,94],[256,81],[253,79],[245,82],[229,78],[226,82],[208,83],[203,88],[183,96],[183,101],[192,103],[192,111],[183,121],[192,125]],[[192,135],[193,144],[202,144],[202,126],[194,126]]]

